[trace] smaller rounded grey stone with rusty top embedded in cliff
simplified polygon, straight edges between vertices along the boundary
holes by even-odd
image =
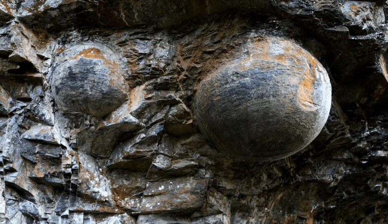
[[[51,75],[55,102],[63,113],[104,117],[128,99],[128,85],[115,52],[101,44],[82,44],[63,51]]]

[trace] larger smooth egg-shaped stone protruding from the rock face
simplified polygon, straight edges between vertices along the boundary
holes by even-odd
[[[272,161],[292,155],[326,123],[329,76],[309,52],[284,38],[252,41],[244,50],[200,81],[194,97],[199,129],[234,158]]]

